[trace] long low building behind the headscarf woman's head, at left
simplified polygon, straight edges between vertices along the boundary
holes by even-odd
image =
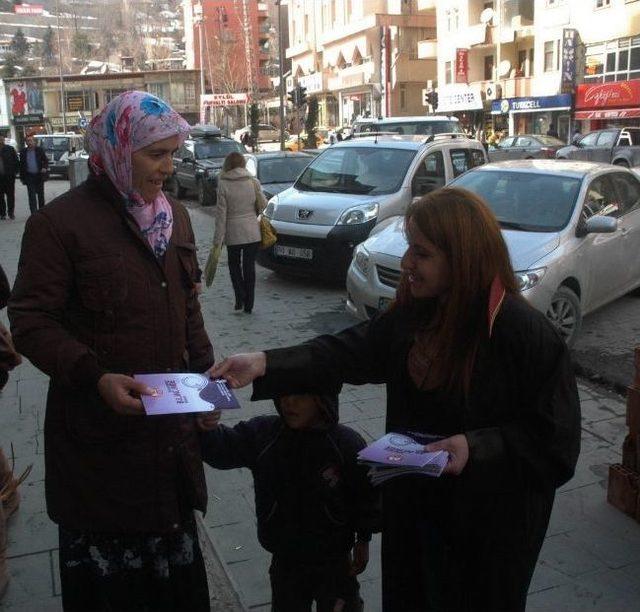
[[[64,123],[68,131],[81,129],[97,110],[130,89],[148,91],[166,100],[187,121],[197,123],[198,75],[196,70],[65,75]],[[62,131],[59,77],[4,79],[0,95],[8,102],[8,127],[13,138],[20,138],[24,132]]]

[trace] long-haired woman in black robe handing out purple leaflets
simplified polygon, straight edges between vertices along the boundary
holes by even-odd
[[[255,399],[290,381],[385,383],[386,429],[444,436],[440,478],[382,491],[384,612],[525,609],[555,489],[575,469],[580,408],[566,345],[520,296],[500,226],[456,188],[405,215],[392,308],[305,344],[212,371]]]

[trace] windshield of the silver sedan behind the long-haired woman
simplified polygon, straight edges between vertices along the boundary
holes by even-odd
[[[571,218],[581,182],[538,172],[477,170],[463,174],[451,185],[483,198],[504,229],[557,232]]]

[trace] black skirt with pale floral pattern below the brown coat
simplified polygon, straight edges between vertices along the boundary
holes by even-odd
[[[195,523],[171,534],[59,528],[65,612],[209,611]]]

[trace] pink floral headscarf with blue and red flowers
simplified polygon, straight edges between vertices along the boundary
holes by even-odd
[[[93,172],[111,179],[156,257],[167,250],[173,213],[162,191],[153,202],[145,202],[133,189],[131,154],[171,136],[178,136],[182,144],[188,133],[189,124],[178,113],[144,91],[127,91],[111,100],[87,130]]]

